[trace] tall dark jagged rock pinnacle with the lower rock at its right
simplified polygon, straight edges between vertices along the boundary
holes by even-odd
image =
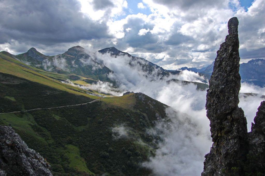
[[[248,160],[249,142],[254,152],[264,151],[264,132],[248,135],[244,111],[238,107],[240,90],[238,20],[228,21],[228,35],[217,51],[214,69],[206,96],[207,117],[210,120],[213,146],[205,155],[203,176],[244,175],[244,164]],[[257,113],[257,125],[264,127],[264,108]],[[262,111],[263,110],[263,111]],[[260,112],[261,111],[261,112]],[[262,117],[261,117],[262,116]],[[261,121],[263,120],[263,123]],[[256,123],[255,121],[255,123]],[[253,134],[252,134],[253,133]],[[256,136],[255,136],[255,135]],[[250,139],[248,136],[252,136]],[[255,136],[255,137],[254,137]],[[263,142],[262,149],[256,151],[257,141]],[[255,149],[254,149],[255,148]],[[263,155],[264,156],[264,155]],[[264,164],[264,162],[263,162]]]

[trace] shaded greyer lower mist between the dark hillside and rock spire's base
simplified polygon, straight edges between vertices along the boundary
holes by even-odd
[[[160,176],[200,175],[204,155],[212,144],[209,127],[208,132],[202,130],[205,125],[198,123],[198,119],[172,108],[168,108],[166,113],[170,122],[162,121],[153,129],[154,133],[162,131],[162,142],[156,156],[143,166]]]

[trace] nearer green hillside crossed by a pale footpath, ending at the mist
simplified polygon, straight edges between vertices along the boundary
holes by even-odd
[[[64,75],[48,77],[0,56],[0,124],[46,158],[54,175],[151,174],[141,163],[159,137],[147,129],[165,118],[166,105],[140,93],[88,103],[99,97],[50,78]]]

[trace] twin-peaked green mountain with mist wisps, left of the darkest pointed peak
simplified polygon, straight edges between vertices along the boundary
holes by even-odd
[[[113,71],[93,60],[80,46],[69,48],[65,53],[56,56],[46,56],[35,48],[30,48],[27,52],[13,58],[46,71],[76,74],[94,80],[113,82],[108,78],[108,74]]]

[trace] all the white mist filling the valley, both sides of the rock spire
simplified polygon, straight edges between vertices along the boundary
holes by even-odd
[[[169,82],[171,79],[186,80],[192,82],[207,82],[203,76],[192,71],[184,70],[179,75],[168,77],[158,76],[159,69],[153,69],[151,74],[142,70],[142,66],[136,61],[129,65],[128,56],[111,57],[109,53],[96,53],[94,59],[99,60],[105,66],[114,71],[109,78],[116,81],[120,89],[142,92],[170,108],[166,109],[167,121],[161,121],[152,133],[162,131],[162,141],[158,144],[156,156],[151,157],[143,166],[153,170],[160,176],[193,176],[200,175],[203,170],[205,154],[209,153],[212,145],[210,137],[210,121],[206,117],[206,90],[196,89],[196,85]],[[143,62],[143,61],[141,61]],[[144,63],[142,63],[144,64]],[[246,95],[243,93],[256,93]],[[248,131],[255,117],[260,102],[264,100],[265,88],[241,84],[239,107],[245,111],[248,122]],[[165,128],[167,127],[167,128]],[[123,131],[123,130],[121,130]]]

